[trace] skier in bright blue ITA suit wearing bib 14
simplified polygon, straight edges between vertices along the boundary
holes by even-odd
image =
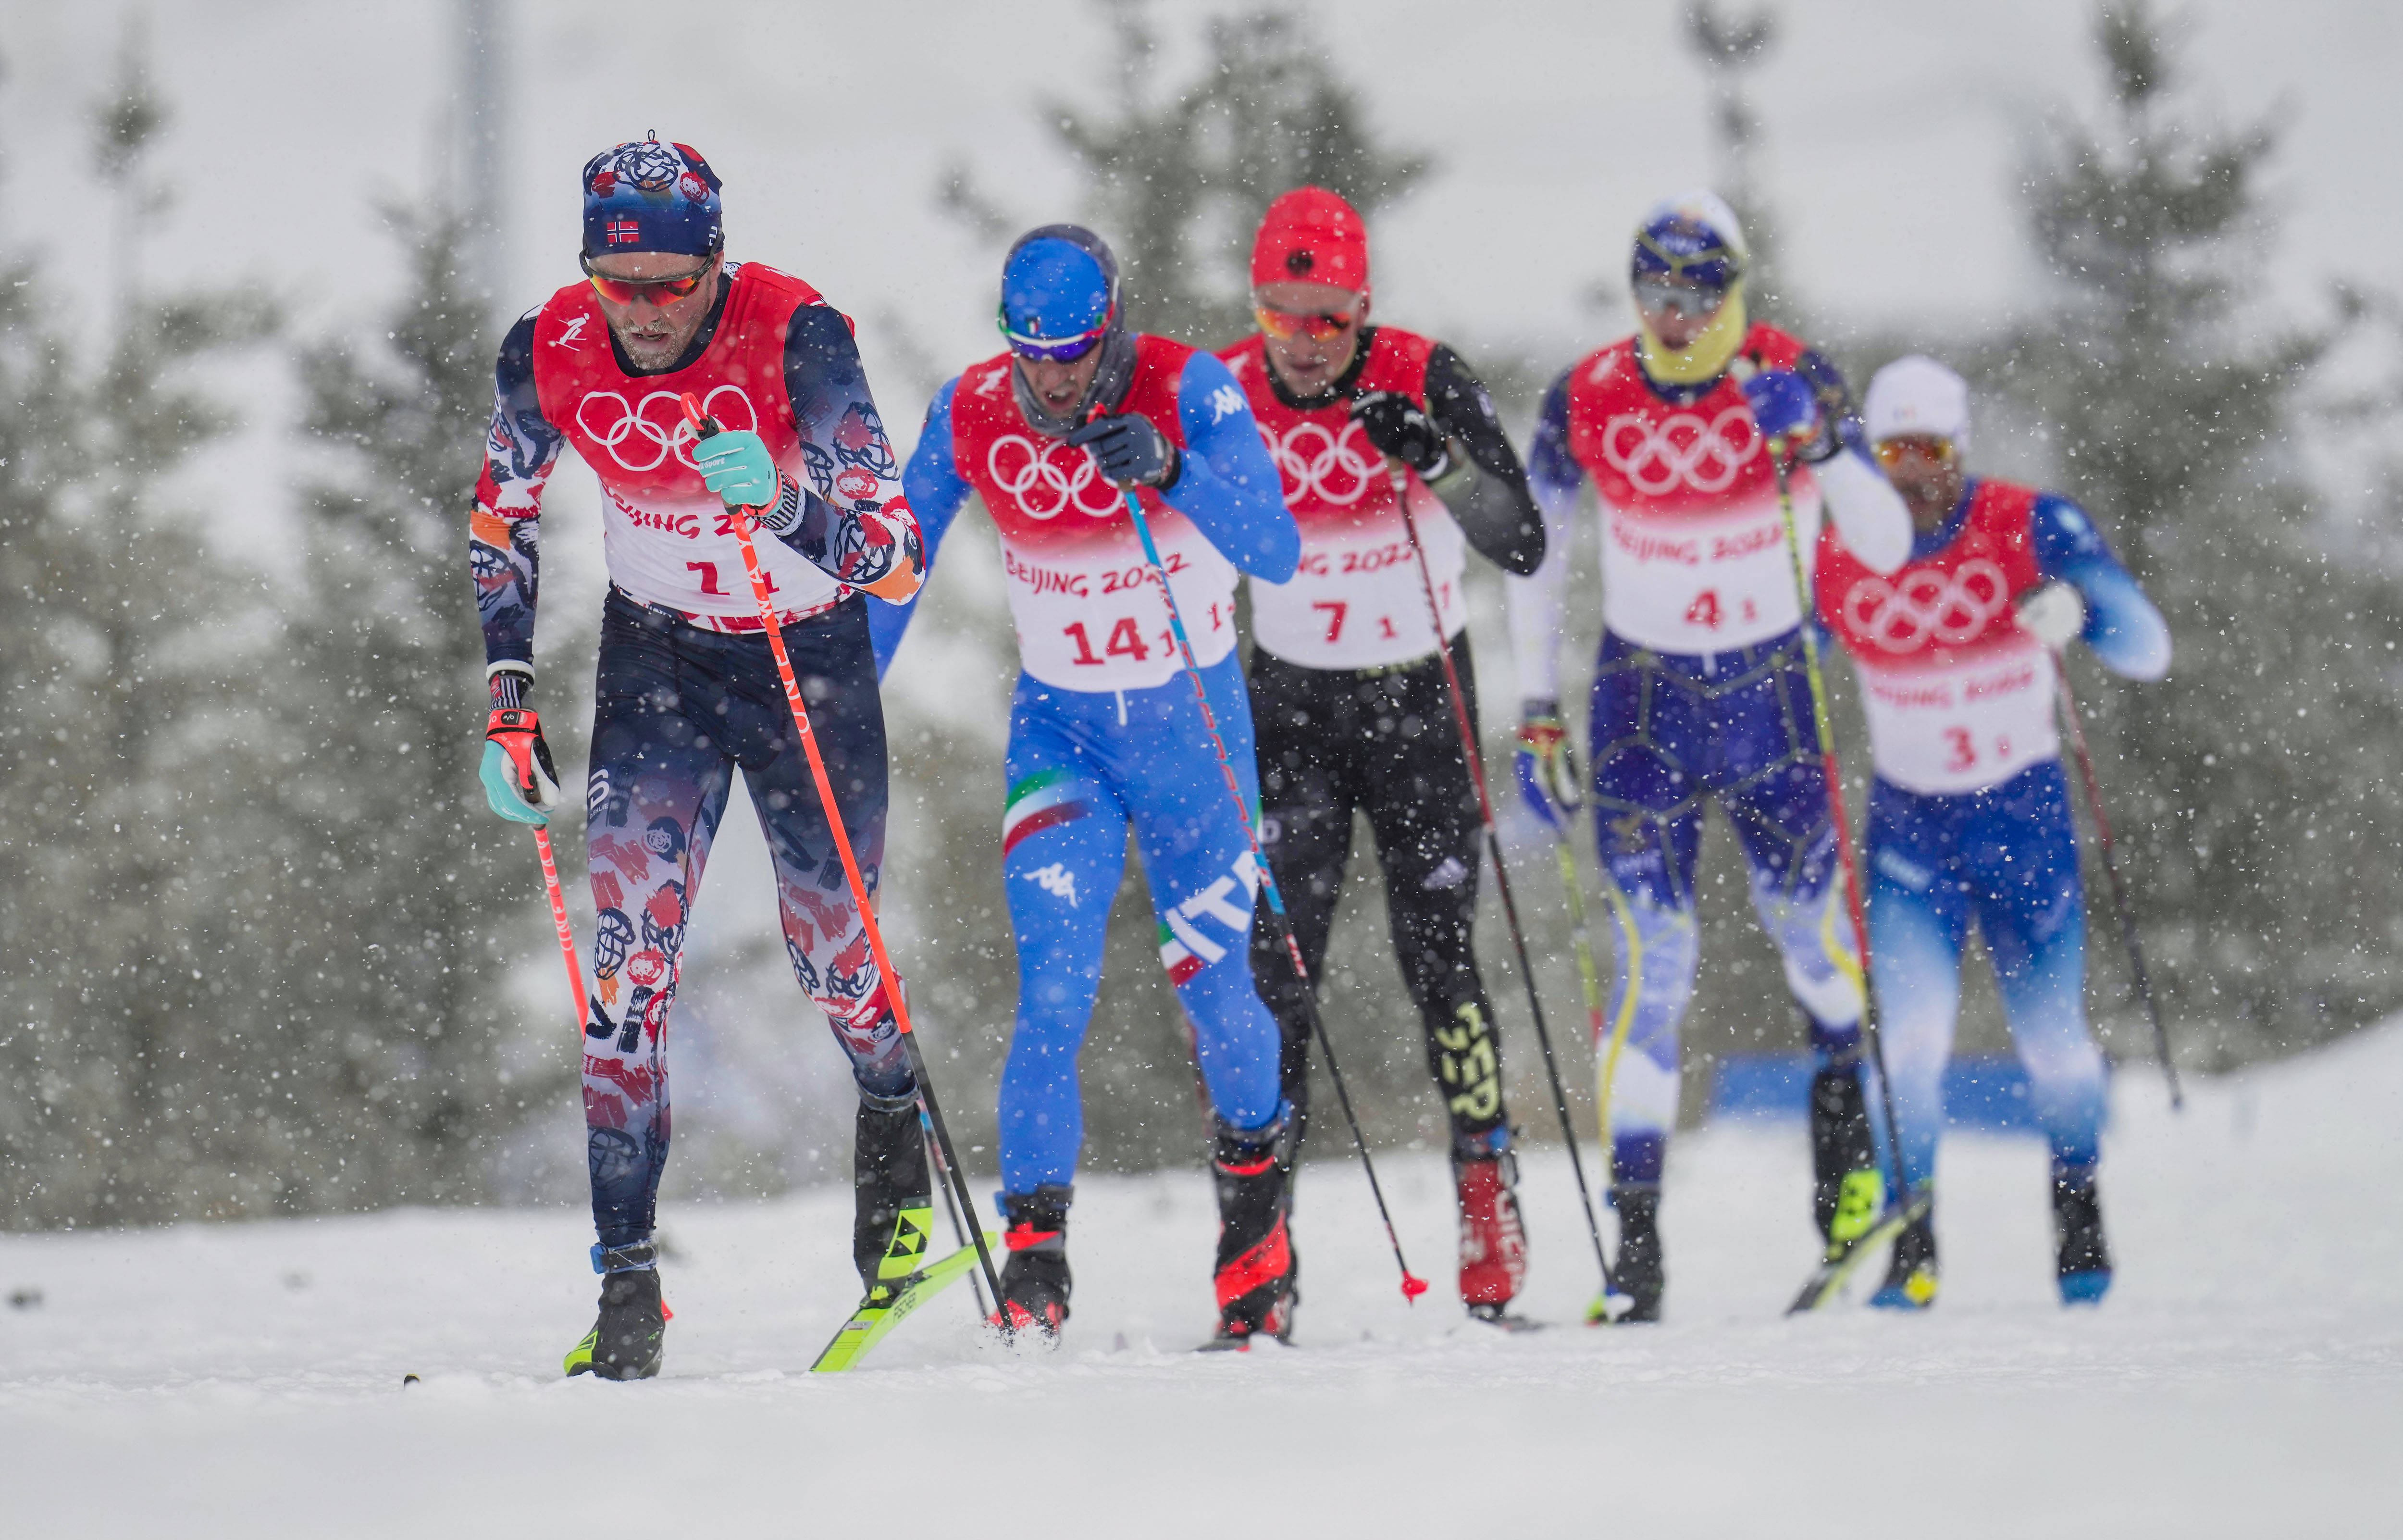
[[[1019,1009],[1002,1069],[1002,1321],[1055,1341],[1067,1321],[1067,1211],[1084,1144],[1077,1055],[1134,829],[1161,963],[1194,1028],[1216,1110],[1218,1341],[1290,1326],[1276,1021],[1252,987],[1259,870],[1182,678],[1168,603],[1127,514],[1137,490],[1242,805],[1257,805],[1235,651],[1235,569],[1293,577],[1300,536],[1226,365],[1127,329],[1117,259],[1043,226],[1002,264],[1009,351],[935,392],[904,476],[932,560],[976,493],[1002,533],[1019,632],[1002,870]],[[877,613],[889,661],[911,610]]]

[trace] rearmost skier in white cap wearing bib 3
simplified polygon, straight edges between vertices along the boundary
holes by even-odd
[[[1860,670],[1870,790],[1870,951],[1903,1170],[1934,1182],[1942,1084],[1975,923],[1994,959],[2031,1105],[2052,1144],[2057,1278],[2110,1288],[2095,1160],[2103,1055],[2086,1031],[2086,896],[2055,728],[2055,653],[2074,639],[2158,680],[2170,629],[2067,497],[1968,476],[1968,387],[1932,358],[1870,382],[1870,442],[1910,505],[1910,562],[1870,572],[1819,538],[1819,615]],[[1937,1297],[1934,1220],[1894,1244],[1877,1305]]]

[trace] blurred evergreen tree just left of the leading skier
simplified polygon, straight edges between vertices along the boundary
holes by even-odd
[[[296,1067],[329,1112],[317,1160],[356,1201],[488,1192],[490,1153],[529,1098],[502,1045],[505,980],[541,956],[533,853],[483,810],[483,634],[466,574],[476,447],[493,416],[493,336],[464,279],[464,216],[387,209],[409,288],[358,339],[300,358],[308,432],[336,452],[308,497],[308,586],[293,615],[291,733],[310,745],[286,795],[288,860],[310,894],[293,1009],[317,1052]],[[538,706],[560,714],[567,697]],[[570,841],[572,843],[572,841]],[[545,995],[550,999],[557,990]],[[570,1026],[545,1021],[565,1040]],[[553,1055],[557,1076],[570,1060]]]

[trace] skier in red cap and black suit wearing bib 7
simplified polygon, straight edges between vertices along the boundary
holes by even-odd
[[[1526,577],[1543,562],[1543,512],[1492,399],[1459,356],[1370,324],[1367,226],[1348,202],[1298,187],[1269,204],[1252,243],[1252,305],[1259,332],[1218,356],[1252,401],[1302,529],[1293,581],[1252,579],[1262,843],[1317,978],[1353,812],[1367,814],[1394,956],[1451,1120],[1461,1300],[1483,1319],[1504,1319],[1526,1278],[1526,1232],[1492,1002],[1468,947],[1483,848],[1478,790],[1437,646],[1451,649],[1473,716],[1463,533],[1478,555]],[[1442,639],[1389,464],[1406,476]],[[1451,495],[1459,521],[1430,488]],[[1269,925],[1252,930],[1252,973],[1283,1031],[1300,1148],[1310,1011]]]

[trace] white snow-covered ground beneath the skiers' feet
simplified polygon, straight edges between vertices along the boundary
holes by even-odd
[[[1954,1139],[1925,1319],[1783,1321],[1800,1132],[1672,1156],[1670,1319],[1495,1336],[1444,1305],[1444,1172],[1389,1156],[1437,1295],[1403,1309],[1355,1168],[1302,1192],[1295,1348],[1197,1357],[1209,1192],[1105,1177],[1069,1345],[966,1290],[810,1377],[848,1199],[668,1216],[666,1377],[557,1379],[584,1218],[387,1213],[0,1237],[5,1535],[2367,1535],[2403,1499],[2403,1026],[2199,1086],[2117,1086],[2119,1288],[2052,1302],[2033,1141]],[[1593,1285],[1536,1156],[1533,1314]],[[404,1389],[401,1374],[423,1381]]]

